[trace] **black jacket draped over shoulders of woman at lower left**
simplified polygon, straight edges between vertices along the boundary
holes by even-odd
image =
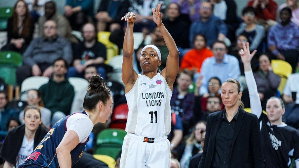
[[[38,129],[34,135],[33,149],[39,144],[39,142],[44,138],[49,130],[42,125],[39,125]],[[16,158],[21,149],[23,138],[25,135],[25,124],[22,126],[18,126],[12,130],[10,130],[4,140],[2,145],[2,149],[0,152],[0,157],[15,165]]]

